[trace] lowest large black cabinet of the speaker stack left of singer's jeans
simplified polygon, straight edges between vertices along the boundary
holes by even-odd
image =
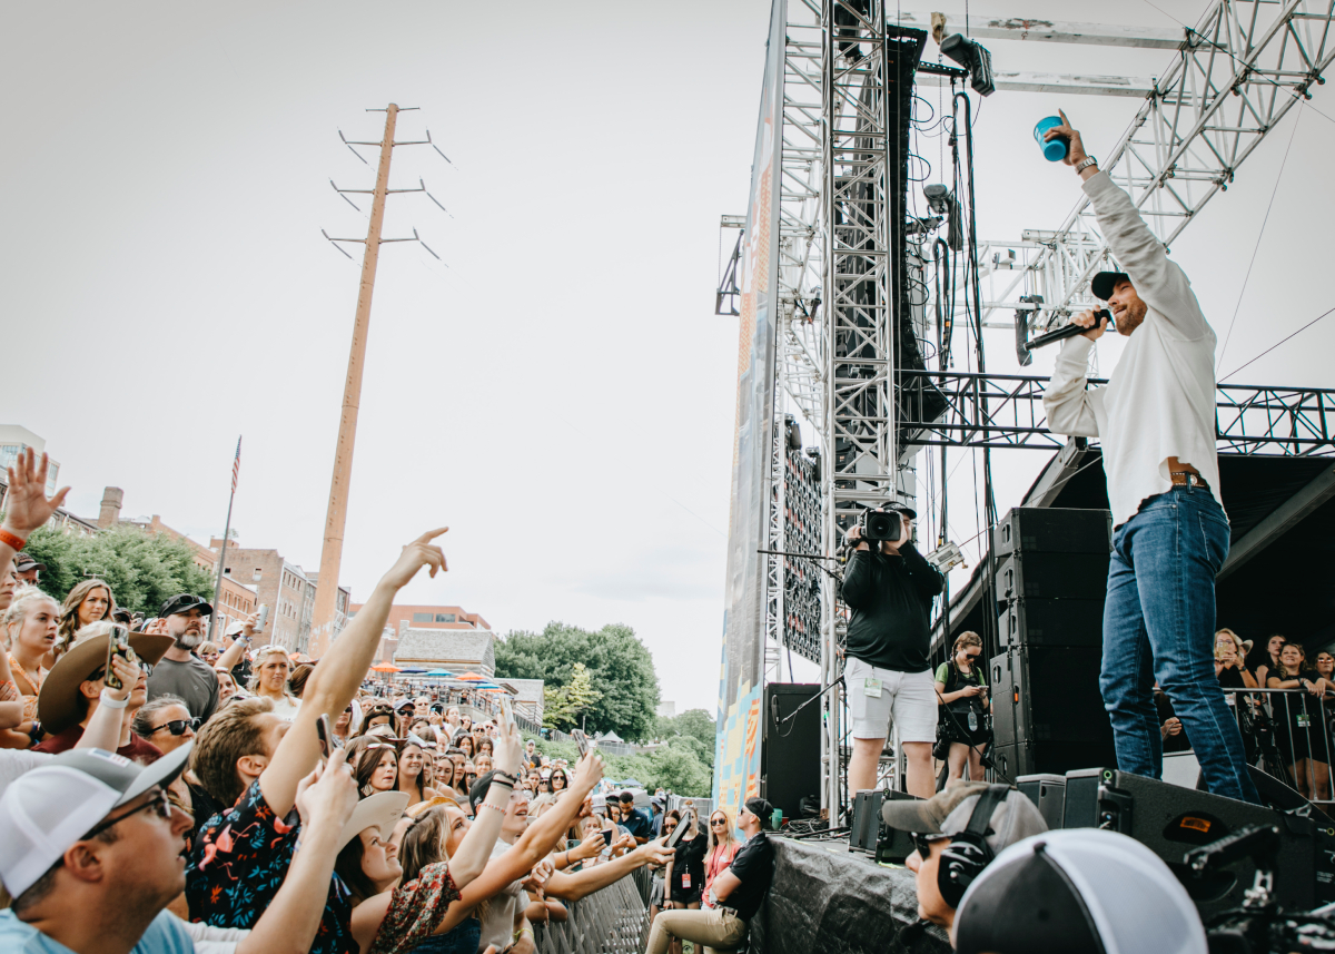
[[[992,657],[992,728],[997,746],[1019,743],[1088,743],[1089,755],[1075,763],[1099,764],[1111,751],[1112,727],[1099,693],[1100,647],[1031,645]],[[1033,767],[1025,775],[1056,768]],[[1065,771],[1065,770],[1061,770]]]

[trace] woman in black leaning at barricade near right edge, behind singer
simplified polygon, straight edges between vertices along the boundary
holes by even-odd
[[[1331,684],[1307,665],[1302,645],[1286,643],[1279,653],[1279,668],[1270,675],[1267,685],[1271,689],[1304,689],[1272,700],[1279,727],[1279,755],[1286,766],[1292,766],[1296,788],[1303,798],[1328,799],[1330,763],[1324,762],[1330,758],[1328,731],[1322,703],[1307,696],[1324,699]]]

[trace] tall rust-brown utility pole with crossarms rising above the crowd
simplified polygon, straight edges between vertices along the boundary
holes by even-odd
[[[417,107],[406,107],[415,110]],[[413,238],[382,239],[380,226],[384,222],[384,199],[396,192],[426,192],[426,184],[421,188],[390,188],[390,158],[395,146],[433,146],[431,132],[421,142],[394,142],[394,127],[398,115],[402,112],[395,103],[390,103],[384,112],[384,136],[378,143],[348,142],[343,139],[350,150],[354,146],[379,146],[380,163],[375,174],[374,190],[339,188],[334,190],[356,208],[356,204],[347,198],[347,192],[371,195],[371,223],[367,227],[364,239],[330,239],[330,242],[363,242],[366,251],[362,255],[362,283],[356,295],[356,318],[352,322],[352,347],[347,357],[347,379],[343,383],[343,412],[338,425],[338,444],[334,448],[334,476],[330,480],[330,502],[324,514],[324,546],[320,550],[320,573],[315,591],[315,617],[311,621],[311,636],[308,652],[319,657],[335,636],[334,623],[338,616],[338,585],[339,565],[343,561],[343,526],[347,522],[347,493],[352,478],[352,446],[356,442],[356,414],[362,404],[362,370],[366,363],[366,337],[371,323],[371,293],[375,290],[375,266],[380,257],[380,245],[384,242],[419,242],[422,247],[435,255],[426,243],[413,231]],[[382,112],[382,110],[367,110],[367,112]],[[342,138],[342,132],[339,138]],[[437,148],[437,152],[441,152]],[[352,154],[362,159],[362,155],[352,150]],[[441,155],[446,162],[449,156]],[[366,162],[366,159],[362,159]],[[453,164],[453,163],[451,163]],[[332,180],[330,182],[332,184]],[[430,192],[427,198],[441,206]],[[445,206],[441,206],[443,210]],[[360,211],[360,210],[359,210]],[[326,234],[326,238],[328,235]],[[338,245],[335,245],[338,247]],[[339,249],[339,251],[343,251]],[[343,253],[347,255],[347,253]],[[435,255],[439,258],[439,255]],[[351,258],[351,255],[348,255]]]

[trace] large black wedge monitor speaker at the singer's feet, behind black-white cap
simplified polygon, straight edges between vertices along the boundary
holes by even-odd
[[[1183,863],[1183,855],[1246,826],[1276,826],[1280,831],[1274,893],[1282,907],[1306,911],[1318,903],[1319,864],[1326,871],[1323,881],[1330,883],[1330,859],[1319,860],[1316,818],[1180,788],[1113,768],[1067,774],[1063,824],[1067,828],[1107,828],[1135,838],[1172,868],[1203,919],[1240,907],[1256,866],[1243,859],[1197,877]]]

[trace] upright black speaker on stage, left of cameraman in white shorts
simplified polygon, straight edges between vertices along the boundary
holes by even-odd
[[[812,703],[817,683],[770,683],[765,687],[760,750],[760,795],[784,812],[802,818],[805,796],[821,792],[821,704]],[[784,722],[788,719],[788,722]]]

